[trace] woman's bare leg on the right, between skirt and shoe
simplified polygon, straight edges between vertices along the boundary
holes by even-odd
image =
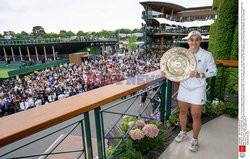
[[[198,139],[201,129],[202,105],[191,104],[191,114],[193,119],[193,138]]]

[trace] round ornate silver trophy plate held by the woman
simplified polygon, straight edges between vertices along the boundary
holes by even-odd
[[[161,57],[161,71],[165,73],[167,79],[180,82],[189,78],[190,72],[196,69],[196,58],[194,54],[186,48],[175,47],[169,49]]]

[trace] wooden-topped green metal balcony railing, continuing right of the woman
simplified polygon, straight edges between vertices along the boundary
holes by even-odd
[[[238,66],[237,61],[217,61],[216,63],[218,67]],[[177,92],[172,91],[173,86],[173,82],[169,80],[166,82],[166,78],[160,75],[160,70],[157,70],[70,98],[49,103],[41,107],[3,117],[0,119],[0,158],[53,158],[53,156],[56,155],[73,153],[75,155],[71,158],[84,157],[92,159],[94,158],[94,144],[97,145],[99,159],[115,158],[117,155],[115,150],[109,155],[106,154],[107,140],[110,140],[110,133],[117,127],[117,124],[121,121],[123,116],[133,116],[136,117],[136,120],[141,118],[152,120],[152,115],[159,113],[160,121],[163,124],[166,123],[172,110],[175,108],[172,105],[172,101]],[[211,79],[207,90],[210,91],[208,99],[212,101],[215,91],[215,77]],[[148,101],[146,101],[145,106],[141,110],[131,111],[131,109],[136,107],[138,97],[144,92],[153,93],[148,95]],[[156,98],[156,94],[160,95],[159,104],[153,111],[148,111],[150,105],[152,106],[150,101]],[[127,95],[131,95],[131,97],[119,100]],[[131,103],[128,104],[129,102]],[[127,107],[123,110],[121,108],[118,108],[118,111],[113,110],[122,104],[125,104]],[[90,117],[90,111],[94,111],[94,120]],[[105,114],[109,116],[118,115],[119,117],[111,118],[111,121],[107,122],[104,117]],[[62,125],[65,121],[67,121],[67,124]],[[91,123],[94,123],[95,129]],[[108,125],[110,126],[109,128],[107,128]],[[55,128],[55,126],[57,128]],[[48,130],[47,133],[42,133],[42,135],[39,133],[35,134],[45,129]],[[58,148],[60,144],[62,144],[76,129],[80,132],[81,139],[79,140],[81,145],[76,149],[58,151],[58,149],[61,150]],[[25,149],[22,152],[20,151],[25,147],[28,147],[30,150],[33,144],[53,136],[62,130],[64,131],[64,135],[60,136],[60,138],[56,140],[56,144],[52,144],[47,151],[38,153],[33,151],[29,152]],[[92,130],[95,130],[94,133]],[[35,137],[30,139],[29,137],[33,135],[35,135]],[[91,140],[91,136],[94,135],[96,135],[96,141]],[[127,135],[128,134],[125,133],[123,136],[117,138],[119,142],[116,148],[118,148],[127,138]],[[28,138],[28,142],[21,144],[22,142],[18,140],[24,138]],[[45,143],[47,142],[51,142],[51,138],[45,141]],[[70,144],[73,146],[75,143]]]

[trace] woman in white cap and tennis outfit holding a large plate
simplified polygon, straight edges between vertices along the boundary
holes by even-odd
[[[210,52],[200,47],[201,40],[202,36],[198,31],[192,31],[188,34],[189,49],[187,51],[189,53],[191,52],[194,55],[196,66],[194,67],[195,69],[188,72],[189,75],[186,79],[180,80],[180,87],[177,96],[178,105],[180,108],[179,118],[181,131],[176,136],[175,141],[179,143],[188,138],[186,132],[186,124],[187,112],[190,108],[193,119],[193,137],[190,141],[189,150],[193,152],[197,151],[199,147],[198,135],[201,129],[201,113],[203,105],[207,100],[206,78],[216,76],[217,74],[217,68],[214,62],[214,58]],[[172,63],[174,63],[174,65],[176,66],[175,68],[178,69],[180,67],[179,62],[173,60]],[[185,65],[185,61],[182,63],[184,63],[182,64],[182,69],[187,70],[186,68],[184,68],[185,66],[187,66]],[[166,71],[162,71],[161,73],[168,78],[168,76],[166,75]]]

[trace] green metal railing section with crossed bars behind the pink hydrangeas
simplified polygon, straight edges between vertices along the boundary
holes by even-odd
[[[136,114],[131,114],[131,113],[128,113],[129,109],[135,105],[135,101],[138,99],[138,97],[140,95],[142,95],[143,93],[145,92],[148,92],[148,91],[151,91],[153,89],[157,88],[157,90],[150,96],[148,97],[149,101],[147,101],[146,105],[143,107],[142,110],[139,110]],[[117,102],[117,103],[114,103],[112,104],[111,106],[109,107],[106,107],[106,108],[103,108],[103,109],[97,109],[96,110],[96,116],[97,116],[97,119],[100,119],[100,127],[99,128],[102,128],[101,132],[103,132],[99,138],[102,140],[102,144],[99,145],[98,149],[99,150],[104,150],[103,152],[99,151],[99,154],[98,156],[101,156],[103,155],[104,157],[103,158],[113,158],[113,157],[116,157],[118,154],[116,154],[116,150],[117,148],[120,146],[120,144],[128,137],[128,133],[130,131],[130,129],[133,127],[133,125],[135,124],[136,121],[138,121],[139,119],[146,119],[146,120],[154,120],[154,118],[152,117],[153,115],[155,115],[157,112],[160,112],[160,116],[162,117],[161,118],[161,122],[164,122],[164,112],[165,112],[165,104],[164,104],[164,100],[161,100],[161,104],[159,104],[156,108],[156,111],[153,111],[151,115],[149,114],[146,114],[146,110],[149,108],[149,106],[151,105],[151,100],[153,100],[155,98],[155,95],[157,93],[161,92],[162,96],[166,96],[166,82],[159,82],[158,84],[154,85],[154,86],[149,86],[146,88],[146,90],[143,90],[135,95],[133,95],[132,97],[129,97],[125,100],[122,100],[121,102]],[[123,112],[114,112],[114,111],[110,111],[109,109],[113,108],[113,107],[116,107],[116,106],[119,106],[119,104],[121,103],[124,103],[124,102],[127,102],[129,100],[132,99],[132,102],[131,104],[128,106],[128,108],[126,108]],[[104,113],[107,113],[107,114],[116,114],[116,115],[119,115],[120,117],[114,122],[114,124],[112,125],[112,127],[110,129],[108,129],[108,131],[105,133],[105,130],[104,130],[104,121],[103,121],[103,115]],[[131,128],[126,131],[126,132],[123,132],[123,136],[121,137],[112,137],[112,139],[120,139],[118,144],[116,145],[116,148],[111,152],[111,154],[109,155],[106,155],[106,146],[105,146],[105,139],[109,139],[110,137],[110,133],[112,133],[112,130],[114,128],[117,128],[119,127],[118,126],[118,123],[121,121],[121,119],[124,117],[124,115],[127,115],[127,116],[131,116],[131,117],[136,117],[136,120],[134,122],[134,124],[131,126]],[[100,117],[99,117],[100,116]],[[98,131],[98,130],[97,130]]]

